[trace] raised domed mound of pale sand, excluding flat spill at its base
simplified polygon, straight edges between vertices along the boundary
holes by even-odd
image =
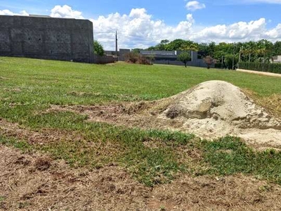
[[[213,119],[240,128],[281,129],[280,122],[228,82],[204,82],[172,98],[164,111],[169,118]]]

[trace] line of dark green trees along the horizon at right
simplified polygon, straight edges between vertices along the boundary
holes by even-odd
[[[133,49],[138,53],[143,49]],[[195,41],[175,39],[169,41],[164,39],[155,46],[150,46],[148,51],[198,51],[199,56],[205,58],[211,56],[217,62],[221,62],[225,56],[234,55],[235,60],[244,62],[269,62],[273,56],[281,55],[281,41],[275,43],[267,39],[259,41],[247,41],[237,43],[221,42],[196,43]]]

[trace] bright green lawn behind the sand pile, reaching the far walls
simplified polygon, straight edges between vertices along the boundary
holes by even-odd
[[[29,58],[0,58],[0,117],[30,122],[57,105],[157,100],[207,80],[225,80],[259,96],[281,94],[281,78],[171,65],[92,65]],[[32,123],[29,123],[32,124]]]

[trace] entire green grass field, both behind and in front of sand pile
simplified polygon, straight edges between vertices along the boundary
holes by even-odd
[[[117,163],[147,186],[166,183],[183,173],[244,173],[281,184],[281,153],[256,152],[237,137],[209,142],[192,134],[85,122],[86,116],[77,113],[44,113],[51,105],[152,101],[214,79],[253,91],[261,99],[281,95],[280,78],[244,72],[0,58],[0,119],[31,132],[60,134],[60,141],[50,138],[37,143],[28,137],[0,133],[0,142],[22,151],[47,153],[73,167],[100,168]],[[67,139],[65,134],[74,138]],[[145,146],[148,140],[157,147]],[[186,153],[192,151],[198,151],[199,158]]]

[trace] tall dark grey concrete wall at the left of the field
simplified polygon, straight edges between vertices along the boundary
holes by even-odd
[[[93,63],[93,23],[0,15],[0,56]]]

